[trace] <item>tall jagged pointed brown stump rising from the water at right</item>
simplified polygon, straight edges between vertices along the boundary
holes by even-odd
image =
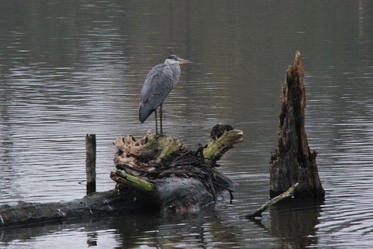
[[[299,51],[294,65],[286,71],[282,86],[278,143],[270,162],[270,196],[274,197],[299,183],[296,197],[323,199],[316,163],[317,152],[310,151],[305,131],[306,93],[304,69]]]

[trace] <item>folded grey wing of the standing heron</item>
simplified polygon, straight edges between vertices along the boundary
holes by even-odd
[[[141,123],[159,107],[174,86],[173,71],[166,64],[155,66],[145,79],[140,95],[139,119]]]

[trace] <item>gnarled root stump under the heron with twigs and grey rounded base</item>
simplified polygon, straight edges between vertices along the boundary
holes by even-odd
[[[187,149],[173,136],[159,136],[151,131],[139,140],[131,135],[118,137],[114,142],[118,149],[114,163],[121,171],[113,171],[111,178],[119,189],[133,188],[153,196],[163,212],[188,211],[189,207],[195,210],[196,205],[216,200],[223,190],[232,193],[230,187],[235,183],[214,167],[223,153],[242,141],[242,131],[222,124],[213,129],[220,131],[212,132],[212,140],[205,146],[199,144],[196,151]],[[160,188],[160,182],[170,177],[174,177],[174,184],[162,184]],[[167,199],[174,203],[165,202]]]

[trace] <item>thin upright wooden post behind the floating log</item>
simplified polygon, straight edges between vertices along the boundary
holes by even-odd
[[[96,134],[85,136],[87,195],[96,192]]]

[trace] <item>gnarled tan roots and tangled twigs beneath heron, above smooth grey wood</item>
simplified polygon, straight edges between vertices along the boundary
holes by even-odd
[[[211,136],[211,142],[205,146],[199,144],[196,151],[187,149],[173,136],[159,136],[151,131],[139,140],[131,135],[118,137],[114,142],[118,149],[114,163],[116,168],[123,170],[125,174],[121,177],[118,172],[112,172],[112,179],[119,183],[118,188],[133,184],[127,182],[126,175],[149,182],[170,176],[196,179],[206,187],[213,200],[216,200],[216,196],[223,190],[232,193],[230,187],[235,185],[214,168],[217,166],[216,161],[232,148],[233,144],[242,141],[242,131],[230,125],[217,124],[213,127]],[[174,199],[179,199],[175,191]],[[181,208],[184,209],[186,208]]]

